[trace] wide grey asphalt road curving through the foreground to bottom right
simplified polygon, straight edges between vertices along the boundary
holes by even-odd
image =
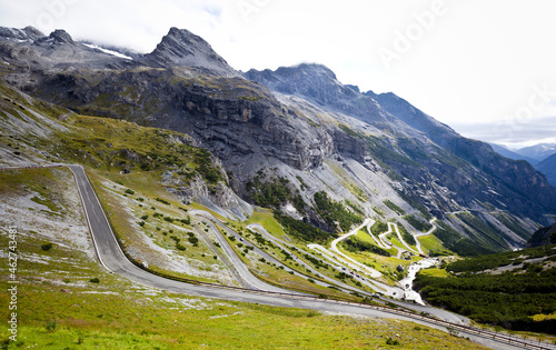
[[[126,258],[118,242],[116,241],[115,234],[110,229],[110,224],[108,223],[100,202],[89,180],[87,179],[83,168],[80,166],[68,167],[71,169],[76,177],[76,182],[83,204],[85,213],[100,262],[107,270],[113,273],[118,273],[119,276],[127,278],[133,282],[138,282],[152,288],[165,289],[172,292],[187,293],[190,296],[199,296],[206,298],[399,319],[417,322],[440,330],[446,330],[446,327],[449,326],[458,331],[459,334],[466,338],[468,337],[470,340],[490,347],[493,349],[543,349],[530,343],[527,343],[526,346],[518,344],[518,342],[522,341],[518,338],[502,334],[497,336],[495,333],[484,332],[478,329],[470,329],[460,327],[458,324],[449,324],[434,319],[419,317],[417,314],[383,309],[379,307],[363,306],[357,303],[325,300],[296,294],[280,294],[261,291],[256,292],[237,288],[225,288],[207,284],[190,284],[155,276],[147,272],[146,270],[138,268]],[[556,347],[546,346],[546,348],[544,349],[556,349]]]

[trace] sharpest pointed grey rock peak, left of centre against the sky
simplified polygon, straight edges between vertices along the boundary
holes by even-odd
[[[205,39],[176,27],[170,28],[157,48],[145,56],[143,61],[152,67],[191,67],[208,74],[238,76]]]

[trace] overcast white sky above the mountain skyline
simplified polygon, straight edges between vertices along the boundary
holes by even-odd
[[[556,142],[554,0],[0,0],[0,26],[151,51],[170,27],[238,70],[318,62],[468,137]]]

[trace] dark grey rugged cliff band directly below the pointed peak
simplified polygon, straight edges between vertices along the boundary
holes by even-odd
[[[81,113],[186,132],[227,164],[272,157],[307,170],[330,152],[326,131],[297,128],[299,117],[282,109],[266,88],[241,78],[207,77],[183,68],[100,74],[44,72],[33,93]]]

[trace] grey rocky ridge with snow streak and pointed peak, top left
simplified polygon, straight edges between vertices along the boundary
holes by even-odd
[[[186,29],[171,28],[157,48],[146,54],[129,56],[129,50],[110,53],[87,42],[77,42],[62,29],[46,36],[33,27],[0,27],[0,52],[3,60],[23,69],[122,69],[188,67],[203,74],[239,77],[210,44]]]

